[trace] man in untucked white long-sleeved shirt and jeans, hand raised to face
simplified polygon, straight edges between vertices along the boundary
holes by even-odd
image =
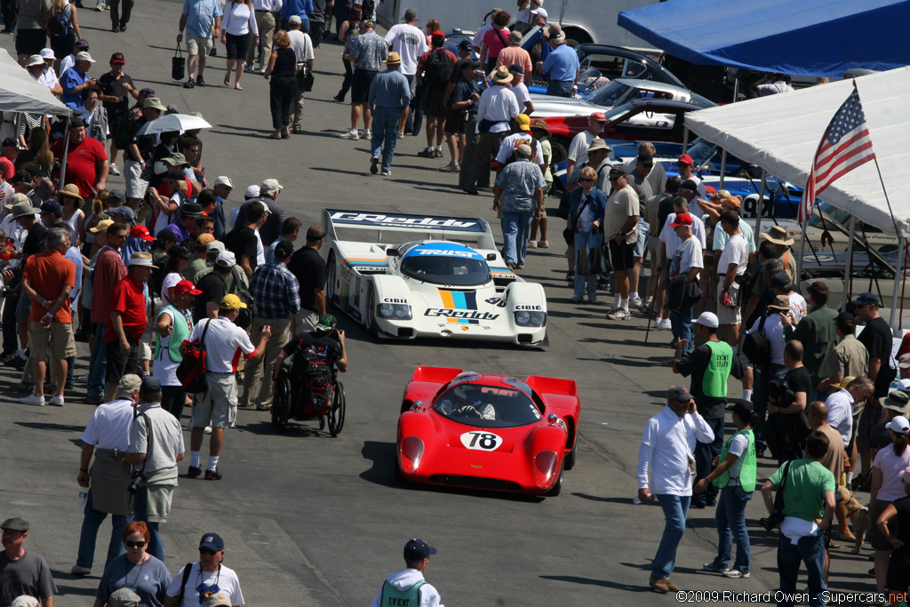
[[[638,451],[638,499],[642,502],[651,500],[650,486],[661,504],[665,521],[663,537],[652,564],[650,585],[655,592],[679,591],[669,578],[692,501],[695,443],[713,440],[711,427],[699,414],[695,400],[685,386],[671,386],[662,412],[648,420],[644,427],[642,446]]]

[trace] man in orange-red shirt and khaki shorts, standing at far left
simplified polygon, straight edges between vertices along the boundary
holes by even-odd
[[[57,390],[49,404],[63,407],[66,359],[76,356],[69,293],[76,286],[76,265],[63,256],[69,232],[56,228],[47,234],[45,250],[25,261],[22,292],[32,300],[28,317],[31,359],[35,361],[35,392],[20,399],[25,405],[45,406],[48,352],[56,365]]]

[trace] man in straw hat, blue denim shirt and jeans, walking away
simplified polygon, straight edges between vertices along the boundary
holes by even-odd
[[[369,161],[369,172],[376,175],[381,155],[382,175],[389,176],[399,137],[399,122],[410,103],[410,85],[408,78],[399,72],[401,57],[398,53],[390,52],[383,63],[386,69],[379,72],[369,86],[369,110],[373,113],[373,137],[370,142],[373,156]]]

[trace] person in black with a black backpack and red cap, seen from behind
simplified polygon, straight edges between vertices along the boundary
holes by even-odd
[[[446,41],[446,36],[442,32],[433,32],[431,39],[432,50],[421,55],[417,64],[417,80],[423,85],[423,114],[427,119],[427,148],[420,150],[417,155],[424,158],[441,158],[445,156],[442,153],[442,137],[446,126],[446,92],[458,57],[442,47]]]

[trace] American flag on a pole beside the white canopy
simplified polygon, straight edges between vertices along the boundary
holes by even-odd
[[[854,86],[853,93],[834,114],[818,144],[799,207],[797,220],[800,225],[812,217],[815,197],[824,192],[825,187],[873,159],[875,152],[872,151],[872,138],[869,137],[869,127],[865,124],[859,92]]]

